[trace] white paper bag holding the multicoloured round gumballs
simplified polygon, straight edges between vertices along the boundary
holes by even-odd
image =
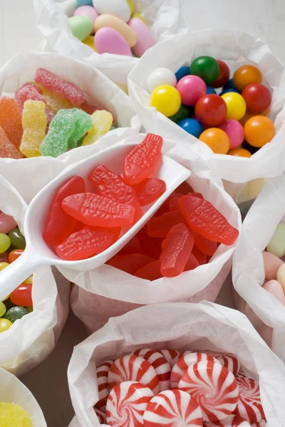
[[[231,75],[239,66],[252,63],[261,71],[264,83],[271,90],[272,103],[269,117],[274,121],[276,136],[270,144],[250,159],[224,154],[213,154],[206,144],[187,134],[175,122],[150,107],[147,76],[158,67],[176,72],[189,65],[197,56],[209,55],[224,60]],[[173,36],[151,48],[128,78],[129,95],[142,125],[147,132],[160,132],[162,136],[185,140],[209,162],[216,176],[229,181],[227,191],[236,200],[245,183],[257,178],[279,176],[285,169],[285,74],[284,65],[259,38],[239,30],[206,30]],[[241,200],[244,201],[244,198]]]

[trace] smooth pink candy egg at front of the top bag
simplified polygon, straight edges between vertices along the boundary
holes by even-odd
[[[100,28],[95,33],[94,42],[98,53],[132,56],[132,51],[125,38],[113,28]]]

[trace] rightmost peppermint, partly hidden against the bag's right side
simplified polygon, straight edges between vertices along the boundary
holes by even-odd
[[[265,419],[265,415],[260,399],[259,383],[242,373],[236,378],[239,384],[239,400],[234,413],[251,424],[260,423]]]

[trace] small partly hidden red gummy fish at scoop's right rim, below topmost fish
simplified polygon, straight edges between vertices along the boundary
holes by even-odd
[[[147,178],[134,186],[141,206],[146,206],[157,200],[166,190],[165,181],[157,178]]]

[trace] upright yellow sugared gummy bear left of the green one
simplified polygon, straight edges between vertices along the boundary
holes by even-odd
[[[23,136],[20,152],[26,157],[41,156],[39,147],[46,137],[46,104],[41,101],[28,100],[24,103],[22,113]]]

